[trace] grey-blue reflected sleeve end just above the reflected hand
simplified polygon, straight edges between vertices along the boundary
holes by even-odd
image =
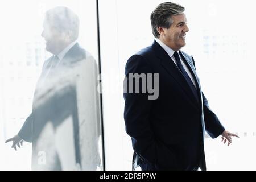
[[[18,135],[26,142],[32,142],[32,114],[26,119]]]

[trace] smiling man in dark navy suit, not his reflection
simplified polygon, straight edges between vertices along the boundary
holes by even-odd
[[[205,131],[212,138],[222,135],[228,145],[231,136],[238,136],[226,131],[209,109],[195,61],[180,50],[189,31],[184,7],[160,4],[151,14],[151,26],[154,43],[131,56],[125,68],[124,118],[134,149],[133,168],[206,170]],[[157,98],[142,91],[146,86],[143,76],[147,84],[154,85]]]

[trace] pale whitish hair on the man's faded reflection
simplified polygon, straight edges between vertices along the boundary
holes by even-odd
[[[79,36],[79,18],[68,7],[58,6],[46,11],[46,21],[52,28],[68,34],[71,40]]]

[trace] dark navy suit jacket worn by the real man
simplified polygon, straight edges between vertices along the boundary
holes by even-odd
[[[156,100],[148,100],[148,92],[124,93],[124,118],[126,132],[132,139],[134,168],[146,163],[156,170],[192,170],[198,166],[205,170],[205,130],[212,138],[224,131],[201,91],[193,57],[183,51],[180,55],[196,81],[199,102],[174,61],[157,42],[126,63],[125,86],[129,73],[159,73]]]

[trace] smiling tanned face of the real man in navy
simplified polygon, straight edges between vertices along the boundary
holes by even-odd
[[[185,46],[185,36],[189,31],[185,14],[173,15],[173,23],[170,28],[162,28],[160,40],[174,51],[179,51]]]

